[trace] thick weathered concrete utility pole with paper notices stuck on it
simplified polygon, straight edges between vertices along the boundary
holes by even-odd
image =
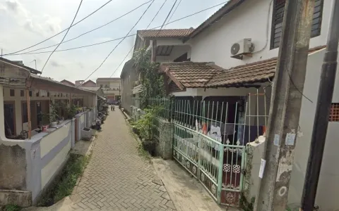
[[[254,210],[285,211],[299,126],[314,0],[287,0]],[[262,162],[264,163],[264,162]]]

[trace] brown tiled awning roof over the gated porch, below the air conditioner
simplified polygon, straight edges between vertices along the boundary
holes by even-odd
[[[314,53],[326,46],[309,49]],[[165,72],[180,89],[208,87],[242,87],[246,84],[267,82],[274,77],[278,58],[222,69],[214,63],[162,63],[160,71]]]

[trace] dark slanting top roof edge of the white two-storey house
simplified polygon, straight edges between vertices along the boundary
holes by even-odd
[[[246,0],[230,0],[228,1],[225,6],[222,6],[219,11],[214,13],[210,18],[208,18],[204,23],[199,25],[196,30],[194,30],[189,37],[186,37],[184,39],[184,42],[188,41],[189,39],[192,39],[196,37],[198,34],[200,34],[203,30],[206,30],[210,25],[220,20],[222,17],[233,11],[235,8],[240,6],[242,3],[244,3]]]

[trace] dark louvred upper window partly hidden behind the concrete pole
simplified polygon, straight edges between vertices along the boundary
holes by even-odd
[[[283,33],[285,2],[286,0],[274,0],[270,49],[278,48],[280,44],[280,38]],[[313,23],[311,26],[311,37],[316,37],[320,35],[322,15],[323,15],[323,0],[315,0]]]

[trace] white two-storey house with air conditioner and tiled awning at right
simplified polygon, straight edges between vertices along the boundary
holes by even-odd
[[[295,149],[289,203],[299,203],[302,196],[320,70],[334,1],[316,0],[314,4],[304,83],[304,96],[311,101],[302,99],[299,121],[301,135],[297,138]],[[167,94],[191,104],[195,101],[227,102],[228,118],[220,117],[220,121],[235,124],[241,121],[242,116],[248,117],[246,124],[249,127],[261,127],[261,131],[256,132],[248,142],[255,141],[266,129],[267,116],[264,114],[268,114],[270,106],[284,8],[285,0],[231,0],[195,29],[138,30],[134,50],[147,48],[152,51],[153,59],[160,63],[159,74],[165,78]],[[338,137],[339,129],[338,78],[316,198],[321,210],[339,209],[335,198],[339,193],[339,171],[334,167],[335,160],[339,158],[338,153],[335,153],[339,147],[335,138]],[[138,96],[141,88],[133,59],[124,64],[121,80],[121,106],[126,112],[133,113],[135,105],[132,98]],[[252,95],[255,100],[251,103]],[[240,104],[246,104],[246,113],[244,109],[239,109]],[[245,146],[248,142],[242,144]],[[253,177],[256,180],[258,178],[257,175]],[[256,181],[251,185],[255,187]],[[252,191],[252,196],[255,196],[255,192]]]

